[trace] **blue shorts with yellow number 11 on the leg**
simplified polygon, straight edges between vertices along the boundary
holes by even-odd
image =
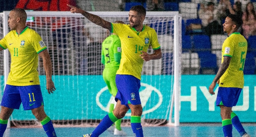
[[[6,85],[1,106],[11,109],[20,109],[21,102],[24,110],[38,108],[43,105],[43,96],[40,85]]]

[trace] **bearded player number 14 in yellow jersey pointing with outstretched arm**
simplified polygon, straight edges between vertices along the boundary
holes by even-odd
[[[71,6],[71,13],[80,13],[91,22],[116,33],[121,40],[121,61],[116,75],[117,95],[116,108],[108,113],[92,134],[83,137],[98,137],[115,121],[123,118],[131,109],[131,127],[136,137],[143,137],[140,117],[142,106],[139,98],[140,78],[144,61],[160,59],[162,52],[158,43],[156,31],[143,25],[146,10],[142,5],[131,7],[129,11],[129,25],[110,23],[97,15],[90,14],[75,6]],[[151,46],[153,54],[147,50]]]

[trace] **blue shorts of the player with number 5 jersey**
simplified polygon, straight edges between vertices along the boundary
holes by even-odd
[[[242,88],[219,87],[217,99],[216,99],[216,106],[219,106],[222,104],[226,107],[235,106],[239,99],[241,91],[242,91]]]

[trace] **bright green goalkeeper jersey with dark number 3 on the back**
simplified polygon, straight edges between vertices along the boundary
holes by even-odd
[[[117,35],[110,35],[102,42],[101,62],[106,67],[119,67],[121,60],[121,41]]]

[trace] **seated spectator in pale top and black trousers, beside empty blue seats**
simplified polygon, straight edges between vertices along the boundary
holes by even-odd
[[[213,2],[208,2],[207,7],[200,4],[198,15],[199,19],[202,20],[203,31],[206,35],[221,34],[222,32],[222,26],[215,17],[216,12]]]

